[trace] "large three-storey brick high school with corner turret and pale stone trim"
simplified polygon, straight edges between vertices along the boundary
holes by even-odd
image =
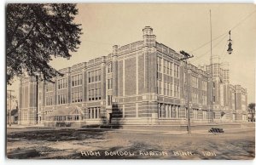
[[[188,105],[191,122],[246,120],[247,90],[230,84],[228,70],[213,62],[211,79],[210,65],[188,64],[186,75],[181,58],[146,26],[141,41],[63,68],[55,83],[22,79],[19,123],[185,124]]]

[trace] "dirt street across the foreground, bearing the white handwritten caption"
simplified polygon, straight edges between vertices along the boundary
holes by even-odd
[[[254,128],[190,135],[142,130],[12,128],[7,130],[7,153],[9,158],[33,159],[253,159],[254,135]]]

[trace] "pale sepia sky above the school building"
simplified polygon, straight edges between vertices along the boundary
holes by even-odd
[[[82,24],[82,43],[70,60],[52,60],[55,69],[108,55],[113,45],[142,40],[144,26],[154,29],[157,42],[193,54],[190,63],[209,64],[211,9],[212,55],[229,63],[230,83],[247,88],[248,103],[255,102],[256,5],[80,3],[78,8],[75,22]],[[234,51],[227,54],[230,30]],[[208,44],[201,47],[204,43]],[[18,84],[15,81],[8,89],[15,89],[18,95]]]

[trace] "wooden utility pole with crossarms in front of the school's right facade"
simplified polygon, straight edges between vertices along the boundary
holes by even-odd
[[[188,62],[187,62],[187,60],[188,59],[190,59],[190,58],[192,58],[192,57],[194,57],[194,55],[190,55],[190,54],[188,54],[188,53],[186,53],[186,52],[184,52],[183,50],[182,51],[180,51],[180,54],[183,54],[184,55],[184,57],[182,58],[182,59],[180,59],[180,60],[183,60],[183,62],[185,63],[185,71],[186,71],[186,73],[185,73],[185,77],[186,77],[186,91],[187,91],[187,107],[188,107],[188,134],[191,134],[191,124],[190,124],[190,90],[189,90],[189,88],[190,88],[190,79],[189,79],[189,71],[188,71]]]

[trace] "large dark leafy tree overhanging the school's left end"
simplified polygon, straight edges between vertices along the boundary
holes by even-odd
[[[44,80],[61,76],[49,65],[52,57],[69,59],[80,44],[82,29],[73,22],[75,4],[8,4],[6,14],[7,83],[24,72]]]

